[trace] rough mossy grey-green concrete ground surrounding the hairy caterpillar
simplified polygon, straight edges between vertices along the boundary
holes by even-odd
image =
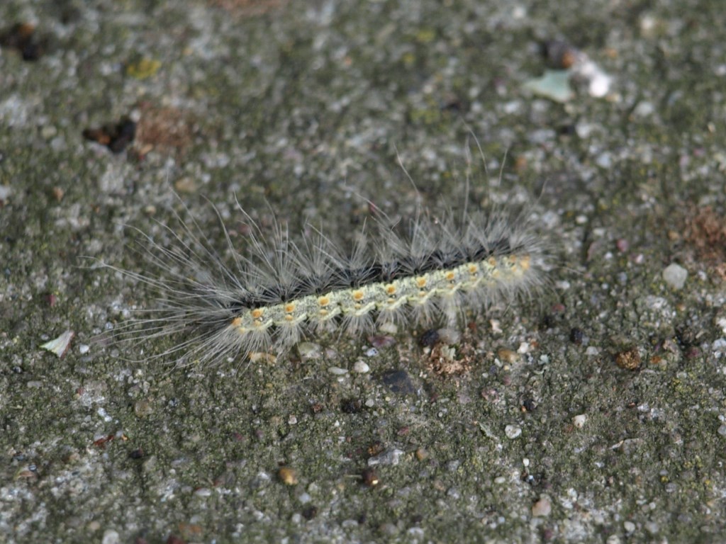
[[[0,540],[726,541],[722,17],[718,0],[1,2],[1,32],[36,28],[0,50]],[[523,91],[553,38],[616,78],[607,98]],[[124,116],[122,152],[84,139]],[[422,330],[176,371],[94,340],[152,295],[82,257],[142,269],[123,225],[163,243],[175,190],[214,243],[203,197],[229,228],[236,197],[262,226],[272,208],[350,239],[360,195],[393,217],[459,202],[472,134],[473,199],[525,205],[556,266],[462,326],[467,373],[436,375]],[[41,349],[66,330],[63,358]]]

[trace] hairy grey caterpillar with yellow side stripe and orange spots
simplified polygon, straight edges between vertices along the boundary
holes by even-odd
[[[122,327],[120,334],[148,339],[181,333],[180,343],[158,355],[181,364],[279,355],[321,331],[356,335],[386,323],[436,321],[451,326],[467,311],[481,314],[529,294],[544,278],[541,239],[503,210],[420,210],[397,226],[378,218],[372,232],[364,228],[344,252],[318,229],[295,243],[278,223],[266,242],[238,207],[249,226],[248,248],[237,251],[224,230],[229,262],[193,221],[179,218],[178,229],[166,226],[173,240],[166,247],[142,235],[152,270],[121,272],[152,287],[158,308],[141,310],[156,313],[135,320],[141,333]]]

